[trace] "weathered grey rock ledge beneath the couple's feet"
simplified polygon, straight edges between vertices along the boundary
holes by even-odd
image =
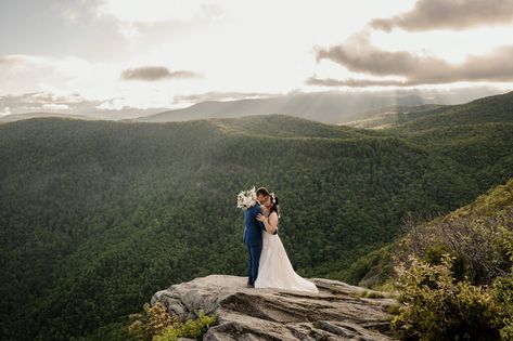
[[[216,314],[218,325],[204,340],[393,340],[387,307],[394,299],[311,280],[319,293],[246,288],[245,277],[210,275],[156,292],[152,305],[159,301],[181,319]]]

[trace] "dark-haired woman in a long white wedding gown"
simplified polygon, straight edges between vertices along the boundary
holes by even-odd
[[[294,272],[280,236],[277,234],[280,218],[278,197],[271,193],[262,206],[262,214],[258,214],[257,220],[265,224],[266,231],[262,232],[262,249],[255,288],[319,292],[315,284]]]

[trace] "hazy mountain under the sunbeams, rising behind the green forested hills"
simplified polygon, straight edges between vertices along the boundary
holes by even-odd
[[[460,104],[476,99],[475,93],[456,93],[444,95],[436,92],[317,92],[290,93],[286,95],[251,99],[239,101],[207,101],[190,107],[168,110],[133,119],[142,122],[169,122],[207,118],[239,118],[251,115],[288,115],[329,124],[342,124],[364,120],[367,122],[383,120],[376,118],[381,113],[399,113],[403,118],[415,118],[420,112],[440,107],[440,104]],[[389,121],[393,117],[386,117]],[[362,123],[362,122],[360,122]],[[358,126],[370,128],[368,126]]]

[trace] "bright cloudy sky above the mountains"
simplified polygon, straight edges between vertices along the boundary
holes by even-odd
[[[0,0],[0,115],[513,90],[513,0]]]

